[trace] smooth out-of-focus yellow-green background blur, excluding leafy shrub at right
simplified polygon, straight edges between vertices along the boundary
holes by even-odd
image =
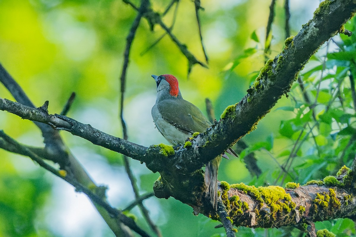
[[[169,2],[152,1],[152,7],[163,12]],[[175,75],[183,98],[204,112],[205,98],[209,98],[216,117],[226,106],[240,101],[264,65],[270,3],[266,0],[201,1],[204,8],[200,11],[201,28],[209,68],[195,65],[189,75],[187,59],[168,36],[147,51],[164,31],[156,26],[151,32],[147,21],[142,19],[127,72],[124,118],[129,140],[143,146],[167,143],[155,129],[151,117],[156,99],[156,83],[151,74]],[[276,56],[284,47],[283,4],[276,2],[269,57]],[[318,5],[316,0],[290,0],[292,35],[313,17]],[[119,77],[126,37],[137,12],[121,0],[0,0],[0,12],[0,63],[34,104],[41,106],[48,100],[49,113],[59,113],[74,91],[77,97],[69,117],[122,137]],[[163,21],[170,26],[173,18],[172,9]],[[172,32],[204,61],[192,1],[180,1]],[[257,40],[251,37],[253,32]],[[253,53],[230,70],[232,62],[246,55],[246,49],[253,49]],[[0,97],[13,100],[3,86],[0,86]],[[291,99],[284,97],[276,108],[291,103]],[[244,141],[247,144],[271,141],[280,129],[281,120],[293,116],[290,111],[273,109]],[[37,127],[16,115],[0,111],[0,129],[22,143],[43,146]],[[94,146],[67,132],[61,134],[91,177],[98,184],[109,187],[110,204],[119,209],[126,207],[134,195],[121,154]],[[272,153],[281,153],[290,146],[292,142],[279,139]],[[0,158],[0,236],[114,236],[84,194],[76,193],[72,186],[28,157],[0,150]],[[258,179],[248,172],[242,158],[223,160],[219,180],[256,186],[272,184],[280,171],[276,160],[257,151],[257,164],[263,172]],[[159,174],[153,174],[136,160],[131,160],[131,165],[140,192],[152,191]],[[304,179],[286,181],[302,183]],[[194,216],[191,207],[173,198],[151,197],[144,204],[163,236],[225,235],[223,228],[214,229],[219,222],[202,215]],[[137,207],[132,214],[139,225],[150,232]],[[280,230],[239,228],[239,231],[244,236],[281,234]]]

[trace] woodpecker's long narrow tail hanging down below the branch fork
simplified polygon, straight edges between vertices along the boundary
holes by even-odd
[[[205,166],[205,186],[208,189],[210,200],[215,210],[218,207],[218,168],[220,162],[221,156],[218,156]]]

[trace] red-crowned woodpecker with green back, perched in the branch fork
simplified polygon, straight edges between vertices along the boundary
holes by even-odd
[[[157,99],[152,107],[152,118],[158,131],[169,143],[173,146],[184,144],[194,132],[204,132],[211,126],[197,106],[183,99],[176,77],[170,74],[152,77],[157,84]],[[231,148],[227,152],[237,156]],[[226,154],[221,156],[229,159]],[[205,186],[215,210],[218,204],[218,167],[221,156],[205,165]]]

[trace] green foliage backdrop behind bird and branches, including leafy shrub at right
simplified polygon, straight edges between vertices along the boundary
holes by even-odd
[[[155,11],[163,12],[170,1],[152,1]],[[139,1],[134,1],[138,5]],[[269,1],[202,1],[200,11],[203,42],[209,56],[209,69],[194,66],[187,75],[187,60],[168,36],[145,52],[164,31],[156,26],[151,32],[142,19],[133,41],[127,74],[124,117],[129,140],[144,146],[166,142],[155,130],[151,107],[155,103],[156,85],[151,74],[174,74],[179,79],[185,99],[203,110],[208,97],[213,101],[215,116],[225,107],[238,102],[253,84],[264,64],[263,55]],[[311,17],[318,1],[291,1],[292,34]],[[174,7],[173,7],[174,8]],[[118,119],[123,51],[136,11],[121,0],[0,0],[0,62],[17,80],[37,106],[49,100],[49,112],[59,113],[70,93],[77,98],[68,116],[111,135],[122,137]],[[284,12],[277,1],[272,25],[271,55],[284,47]],[[163,18],[170,26],[173,9]],[[173,33],[200,60],[199,35],[194,3],[179,4]],[[355,32],[355,20],[346,24]],[[335,175],[342,165],[350,165],[355,156],[355,107],[349,79],[356,78],[355,34],[337,36],[312,57],[293,85],[288,98],[258,124],[258,129],[244,138],[249,145],[239,159],[224,161],[219,179],[229,183],[284,186],[293,181],[305,184],[310,179]],[[331,53],[330,53],[331,52]],[[326,55],[326,57],[325,57]],[[309,101],[306,100],[307,96]],[[12,99],[0,86],[0,97]],[[42,146],[38,129],[19,117],[0,112],[0,129],[18,141]],[[98,183],[109,185],[109,201],[125,208],[133,200],[131,186],[122,168],[121,156],[101,147],[61,133],[69,148]],[[244,157],[254,152],[260,177],[252,177],[244,165]],[[92,216],[95,225],[78,224],[81,235],[66,231],[63,220],[77,222],[79,215],[61,196],[78,199],[72,188],[61,186],[26,157],[0,150],[0,236],[113,236],[100,216]],[[158,174],[145,165],[132,161],[141,193],[151,192]],[[281,167],[288,173],[282,171]],[[237,172],[238,170],[238,172]],[[60,195],[58,195],[58,193]],[[192,215],[192,208],[174,199],[145,201],[163,236],[225,236],[219,222]],[[54,208],[66,206],[66,208]],[[91,209],[90,205],[87,207]],[[140,211],[132,210],[138,223],[149,227]],[[62,217],[49,219],[48,217]],[[63,226],[61,226],[63,225]],[[54,228],[53,226],[56,226]],[[339,219],[316,223],[317,229],[328,229],[337,236],[355,236],[354,222]],[[68,227],[67,227],[68,229]],[[300,236],[300,231],[250,229],[240,227],[239,236]],[[94,231],[95,230],[95,231]]]

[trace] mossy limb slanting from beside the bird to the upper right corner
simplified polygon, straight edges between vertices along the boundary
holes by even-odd
[[[248,94],[239,103],[228,106],[219,122],[193,139],[192,147],[199,149],[188,149],[180,156],[181,160],[196,156],[190,167],[196,167],[194,163],[204,164],[212,154],[218,156],[254,130],[278,99],[288,93],[310,56],[334,36],[355,11],[356,3],[352,0],[332,1],[330,7],[319,9],[295,37],[286,41],[286,48],[267,61]]]

